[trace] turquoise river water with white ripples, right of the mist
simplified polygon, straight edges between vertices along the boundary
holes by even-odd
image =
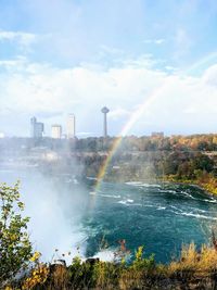
[[[182,243],[208,242],[217,224],[216,199],[192,186],[104,182],[90,199],[91,211],[84,217],[87,255],[99,251],[104,237],[110,247],[125,239],[131,253],[144,245],[146,254],[168,262]]]

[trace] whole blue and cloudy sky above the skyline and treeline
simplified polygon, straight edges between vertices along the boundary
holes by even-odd
[[[0,0],[0,136],[217,133],[216,0]]]

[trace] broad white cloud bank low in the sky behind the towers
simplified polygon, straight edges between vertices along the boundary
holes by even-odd
[[[67,113],[75,113],[80,134],[100,135],[103,105],[111,110],[111,135],[117,135],[140,108],[143,110],[129,134],[215,128],[216,88],[209,81],[217,79],[215,66],[201,77],[190,77],[155,71],[138,60],[108,70],[94,65],[56,68],[18,60],[0,74],[0,130],[27,135],[29,118],[36,115],[47,124],[49,134],[51,124],[64,127]],[[152,101],[146,105],[146,100]]]

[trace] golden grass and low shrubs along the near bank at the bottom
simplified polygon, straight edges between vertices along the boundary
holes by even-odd
[[[67,267],[49,264],[37,267],[8,289],[217,289],[217,251],[205,244],[200,250],[194,243],[183,245],[180,259],[168,265],[156,264],[153,255],[144,257],[140,247],[131,264],[124,260],[82,262],[77,256]]]

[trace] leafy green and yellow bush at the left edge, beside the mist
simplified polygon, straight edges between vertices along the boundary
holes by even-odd
[[[0,288],[24,269],[33,256],[27,232],[28,217],[23,217],[18,182],[0,185]]]

